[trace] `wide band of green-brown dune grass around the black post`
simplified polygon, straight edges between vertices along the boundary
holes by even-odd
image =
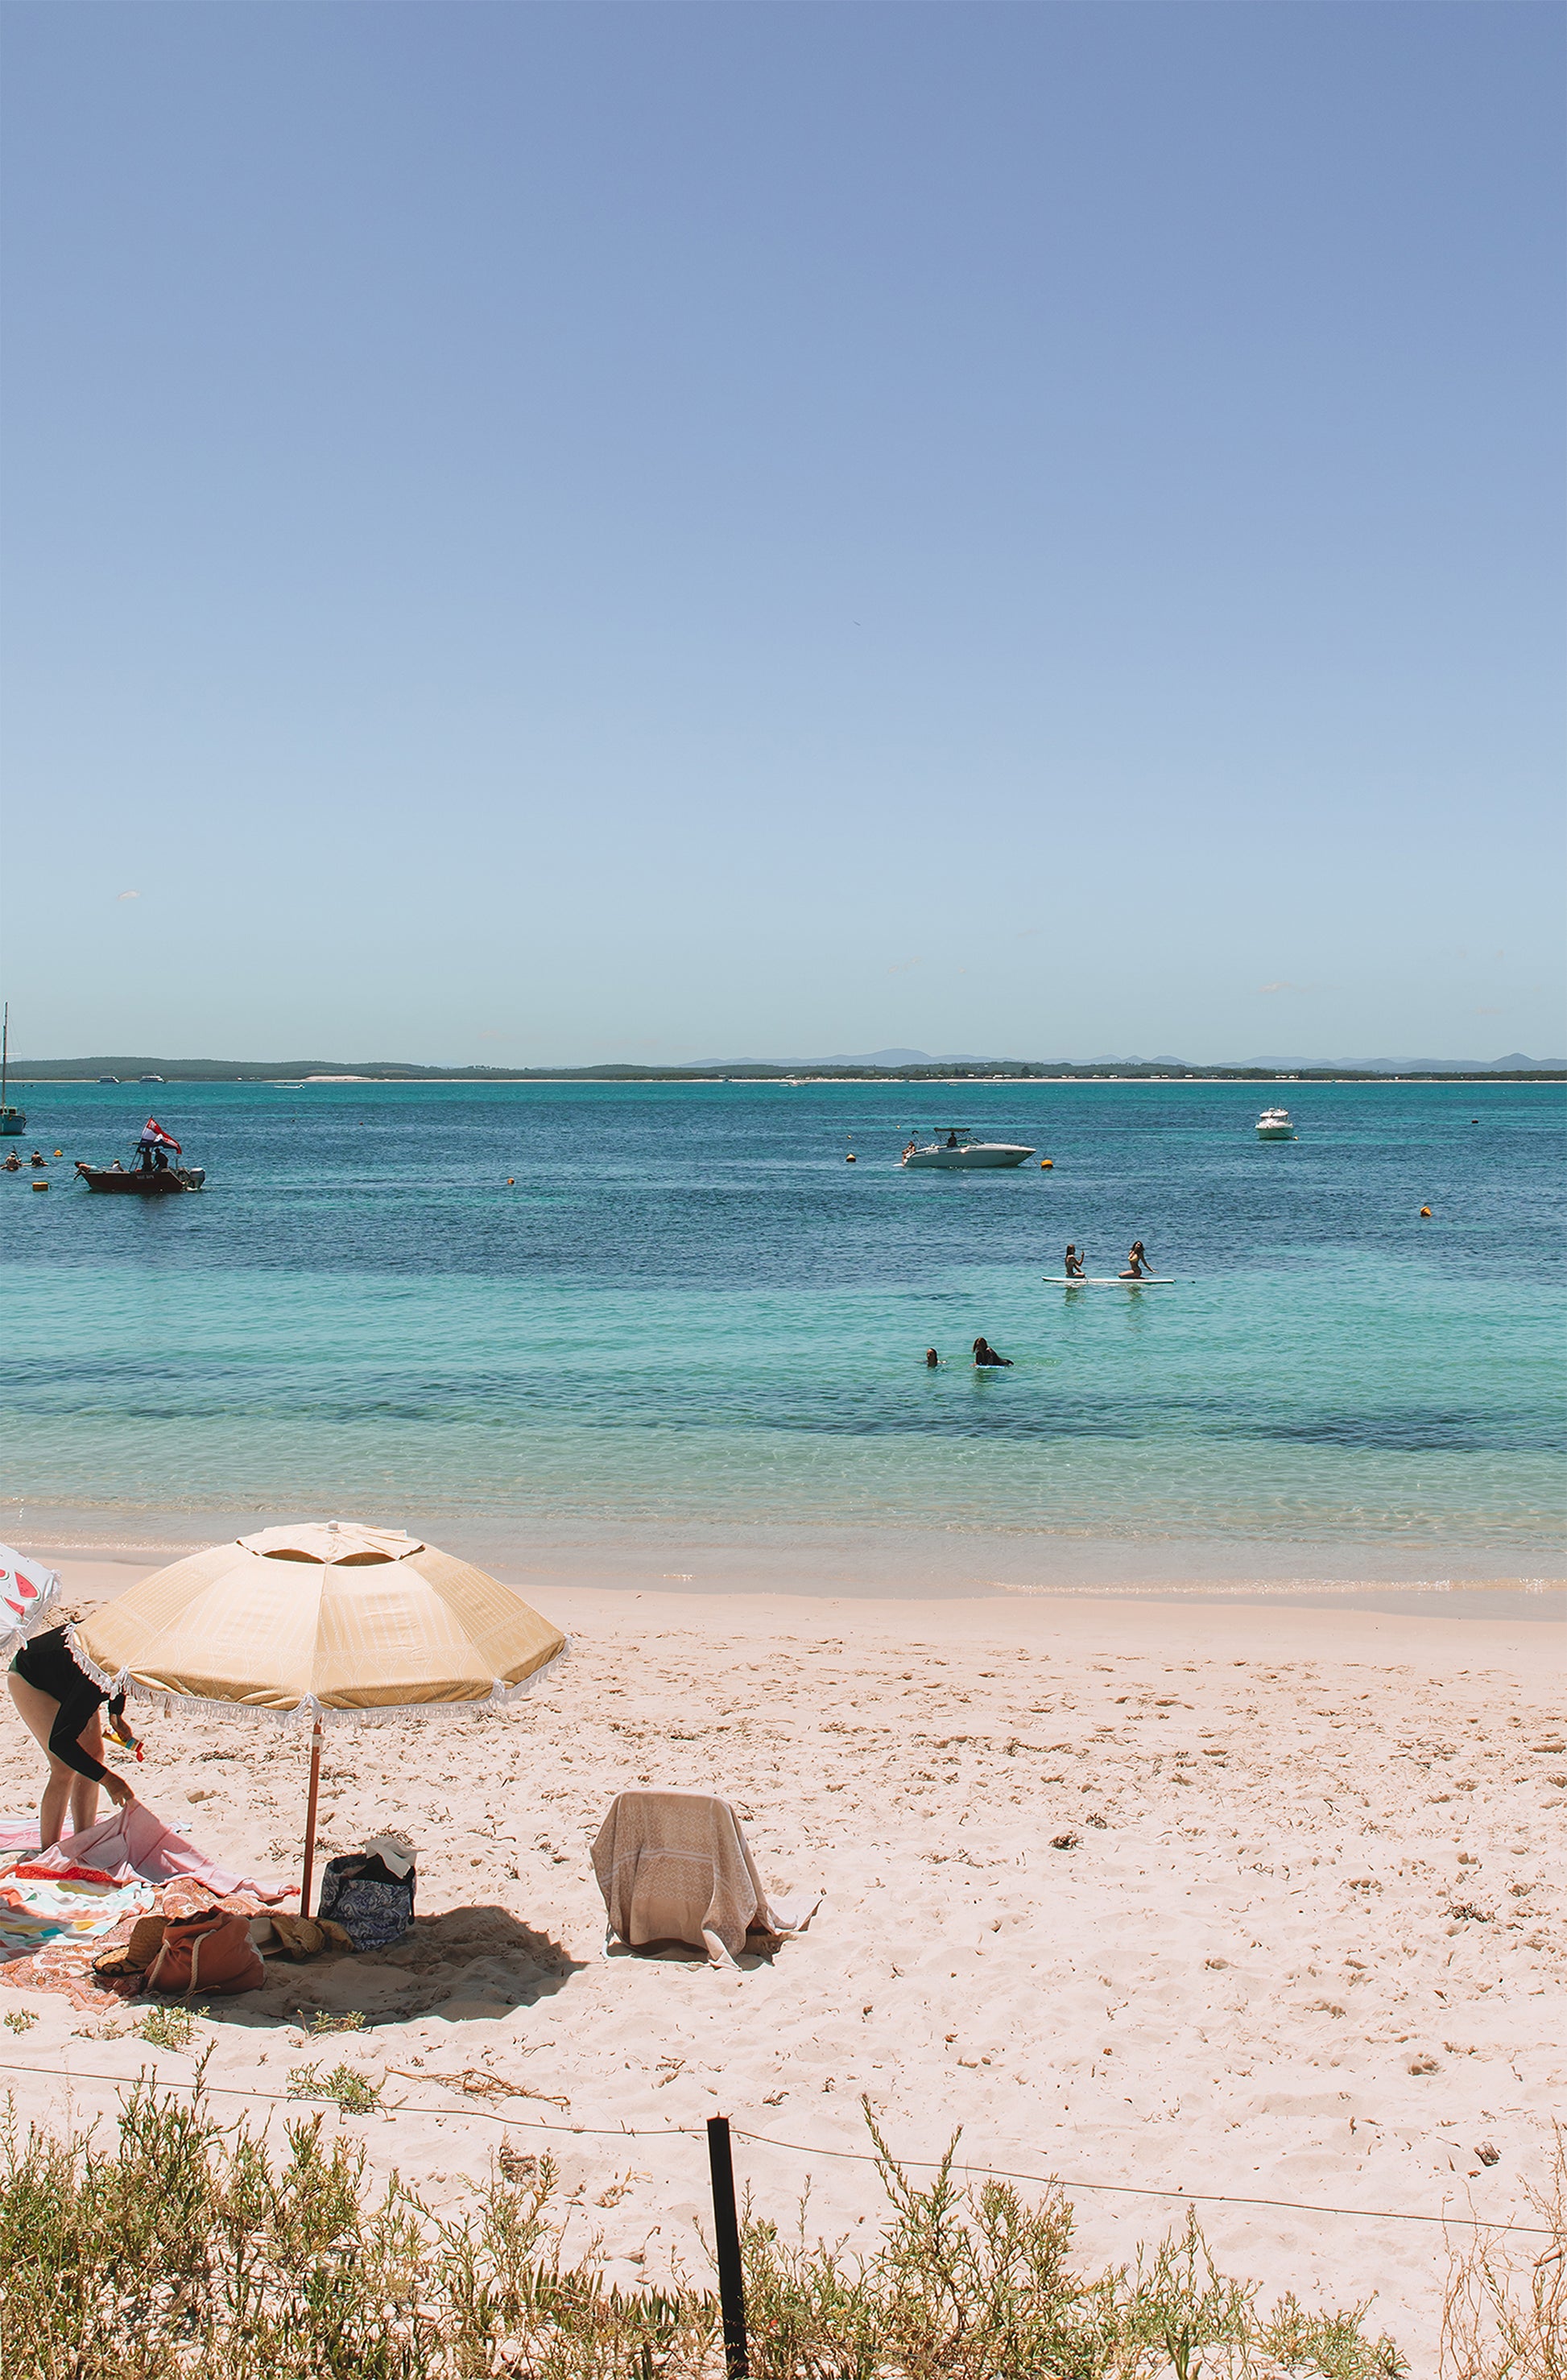
[[[202,2097],[126,2090],[117,2137],[0,2132],[7,2380],[719,2380],[714,2294],[619,2290],[562,2259],[548,2156],[460,2218],[326,2118],[274,2152]],[[1060,2192],[917,2187],[876,2137],[888,2213],[867,2256],[743,2228],[755,2380],[1222,2380],[1405,2370],[1365,2309],[1272,2313],[1219,2275],[1195,2218],[1131,2268],[1081,2273]],[[514,2166],[517,2161],[512,2161]]]

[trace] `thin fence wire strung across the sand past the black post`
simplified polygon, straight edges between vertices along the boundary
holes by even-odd
[[[0,2073],[33,2075],[43,2082],[112,2082],[124,2090],[129,2082],[143,2080],[143,2075],[105,2075],[86,2066],[24,2066],[17,2059],[0,2059]],[[183,2082],[171,2075],[160,2075],[152,2068],[150,2080],[157,2090],[188,2090],[195,2092],[195,2082]],[[243,2090],[236,2082],[200,2082],[200,2090],[212,2099],[264,2099],[271,2106],[300,2106],[310,2099],[310,2092],[281,2092],[281,2090]],[[314,2094],[321,2097],[321,2094]],[[550,2132],[562,2140],[707,2140],[707,2125],[695,2123],[660,2123],[660,2125],[633,2125],[633,2123],[543,2123],[533,2116],[502,2116],[493,2106],[414,2106],[407,2099],[398,2099],[388,2113],[407,2109],[414,2116],[455,2116],[469,2123],[502,2123],[514,2132]],[[736,2140],[750,2140],[760,2149],[781,2149],[786,2156],[834,2156],[853,2166],[879,2166],[881,2159],[872,2156],[869,2149],[824,2149],[807,2147],[800,2140],[774,2140],[769,2132],[745,2132],[738,2123],[729,2130]],[[938,2173],[941,2159],[936,2156],[900,2156],[900,2166],[912,2166],[919,2173]],[[967,2175],[981,2175],[993,2182],[1034,2182],[1036,2190],[1086,2190],[1098,2197],[1115,2199],[1174,2199],[1179,2206],[1269,2206],[1284,2213],[1298,2216],[1348,2216],[1353,2223],[1436,2223],[1443,2230],[1474,2230],[1474,2232],[1522,2232],[1529,2240],[1560,2240],[1560,2232],[1548,2223],[1496,2223],[1484,2216],[1424,2216],[1410,2213],[1398,2206],[1319,2206],[1312,2199],[1253,2199],[1238,2197],[1219,2190],[1160,2190],[1153,2182],[1081,2182],[1067,2173],[1019,2173],[1012,2166],[979,2166],[974,2159],[953,2159],[953,2168]]]

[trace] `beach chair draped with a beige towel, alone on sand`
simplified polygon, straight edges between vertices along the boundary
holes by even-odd
[[[822,1897],[769,1899],[729,1802],[676,1785],[614,1797],[593,1873],[605,1897],[605,1954],[614,1937],[631,1949],[688,1942],[714,1966],[733,1966],[748,1933],[803,1933]]]

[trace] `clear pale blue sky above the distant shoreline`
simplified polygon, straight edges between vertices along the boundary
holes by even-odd
[[[1567,1045],[1557,10],[5,52],[24,1052]]]

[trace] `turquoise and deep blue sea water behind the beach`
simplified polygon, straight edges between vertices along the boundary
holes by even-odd
[[[1255,1138],[1274,1097],[1293,1142]],[[26,1545],[317,1514],[638,1585],[1565,1568],[1562,1085],[21,1100],[21,1147],[64,1150],[48,1197],[0,1176]],[[126,1157],[148,1102],[207,1190],[93,1197],[69,1161]],[[948,1121],[1053,1169],[905,1173]],[[1176,1288],[1045,1285],[1067,1240],[1115,1273],[1134,1238]]]

